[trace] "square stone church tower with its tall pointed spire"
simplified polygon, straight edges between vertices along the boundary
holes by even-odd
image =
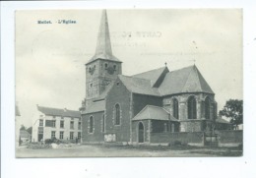
[[[122,62],[111,49],[106,11],[103,10],[97,35],[96,53],[86,64],[86,98],[98,97],[117,75],[122,74]]]

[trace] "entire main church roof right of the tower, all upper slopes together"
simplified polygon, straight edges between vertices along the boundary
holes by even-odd
[[[172,72],[167,71],[168,69],[163,67],[131,77],[123,75],[118,77],[124,86],[134,93],[156,96],[184,92],[214,93],[195,65]],[[160,81],[158,88],[153,85],[157,83],[156,81]]]

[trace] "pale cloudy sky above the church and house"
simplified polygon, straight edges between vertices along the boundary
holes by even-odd
[[[100,17],[101,10],[16,11],[16,101],[26,127],[32,126],[36,104],[81,106]],[[240,9],[107,10],[107,17],[123,75],[165,62],[169,71],[195,64],[216,93],[219,110],[229,98],[242,99]]]

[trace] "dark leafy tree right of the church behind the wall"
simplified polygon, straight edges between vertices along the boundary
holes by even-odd
[[[230,123],[237,128],[237,125],[243,123],[243,100],[229,99],[225,102],[223,110],[220,110],[220,116],[230,119]]]

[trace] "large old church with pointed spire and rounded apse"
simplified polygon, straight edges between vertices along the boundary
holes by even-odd
[[[215,92],[195,65],[124,76],[122,64],[112,54],[104,10],[95,55],[86,63],[82,143],[201,143],[202,133],[215,129]]]

